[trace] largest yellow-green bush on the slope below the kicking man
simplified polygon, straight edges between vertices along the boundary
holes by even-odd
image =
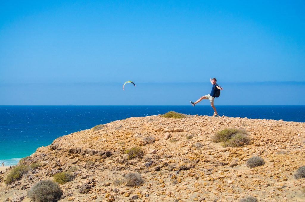
[[[224,147],[238,147],[243,146],[244,144],[249,144],[250,138],[248,137],[245,130],[237,128],[226,128],[221,131],[217,131],[212,136],[212,141],[215,143],[222,142]]]

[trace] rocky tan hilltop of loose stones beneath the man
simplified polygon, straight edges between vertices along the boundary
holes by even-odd
[[[245,129],[250,143],[223,147],[212,142],[215,132],[225,128]],[[40,167],[8,185],[12,168],[0,174],[0,200],[31,201],[27,192],[33,185],[68,171],[73,179],[60,185],[60,201],[239,201],[249,196],[305,201],[305,179],[294,177],[305,165],[304,144],[305,123],[300,122],[131,117],[38,148],[19,164]],[[139,153],[128,156],[131,148]],[[265,164],[249,168],[247,160],[254,156]],[[129,173],[140,174],[143,182],[128,186]]]

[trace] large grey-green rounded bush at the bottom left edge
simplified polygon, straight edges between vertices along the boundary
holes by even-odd
[[[42,180],[32,186],[27,195],[38,202],[56,202],[63,195],[63,192],[56,182]]]

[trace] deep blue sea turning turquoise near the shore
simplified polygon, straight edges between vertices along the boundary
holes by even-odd
[[[305,106],[216,106],[228,117],[283,119],[305,122]],[[20,158],[54,139],[98,124],[128,117],[176,111],[213,115],[211,106],[0,106],[0,163],[16,165]]]

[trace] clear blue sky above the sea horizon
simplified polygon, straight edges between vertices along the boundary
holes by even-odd
[[[305,1],[1,1],[0,105],[305,105]],[[134,81],[134,88],[122,85]],[[208,102],[202,104],[209,104]]]

